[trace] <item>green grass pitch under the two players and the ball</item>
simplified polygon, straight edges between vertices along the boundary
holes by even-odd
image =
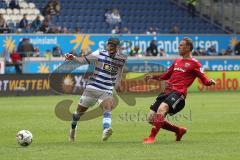
[[[239,93],[190,93],[186,106],[177,117],[168,117],[175,124],[188,128],[181,142],[173,133],[161,130],[154,145],[142,144],[149,134],[146,113],[155,97],[139,98],[135,107],[120,101],[113,111],[113,136],[101,142],[102,118],[81,122],[77,141],[68,142],[69,122],[55,116],[60,100],[78,96],[0,98],[1,160],[232,160],[240,152]],[[17,131],[28,129],[33,143],[21,147],[16,143]]]

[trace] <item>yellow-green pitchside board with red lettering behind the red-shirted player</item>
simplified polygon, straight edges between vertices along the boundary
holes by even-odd
[[[226,72],[206,72],[207,77],[216,81],[215,86],[204,86],[199,79],[196,79],[192,86],[188,89],[189,92],[219,92],[240,91],[240,74],[239,71],[226,71]],[[129,73],[126,80],[122,82],[122,91],[140,93],[162,91],[164,83],[150,82],[145,83],[143,80],[144,73]],[[138,77],[138,78],[136,78]]]

